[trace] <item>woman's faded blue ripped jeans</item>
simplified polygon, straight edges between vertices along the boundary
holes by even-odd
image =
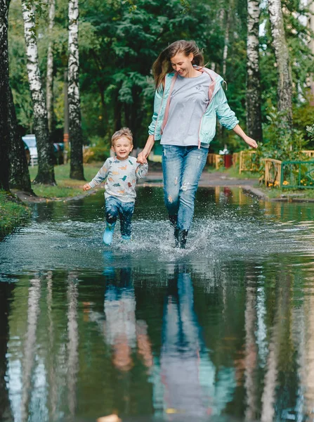
[[[174,227],[189,230],[199,178],[206,164],[208,148],[162,146],[164,202]]]

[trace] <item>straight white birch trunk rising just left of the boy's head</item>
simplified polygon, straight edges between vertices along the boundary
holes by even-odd
[[[84,180],[83,135],[79,98],[79,0],[69,0],[69,62],[67,70],[69,101],[70,178]]]

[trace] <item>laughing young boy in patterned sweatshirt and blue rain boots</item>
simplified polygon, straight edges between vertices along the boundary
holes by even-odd
[[[136,198],[136,180],[148,174],[148,165],[139,164],[136,158],[129,157],[133,149],[133,135],[128,127],[115,132],[111,139],[115,157],[107,158],[105,164],[92,181],[84,184],[84,191],[105,181],[106,229],[103,243],[111,245],[117,217],[120,219],[122,239],[131,238],[131,219]]]

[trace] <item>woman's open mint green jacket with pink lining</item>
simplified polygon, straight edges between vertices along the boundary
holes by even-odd
[[[211,77],[209,84],[209,104],[199,122],[199,146],[201,143],[211,143],[216,133],[216,118],[227,129],[233,129],[238,123],[235,113],[228,105],[225,92],[223,91],[223,78],[213,70],[198,68],[207,72]],[[164,87],[161,85],[155,91],[154,113],[152,122],[148,127],[148,134],[154,135],[155,141],[162,139],[162,130],[166,125],[170,106],[171,92],[177,77],[176,72],[168,73],[165,77]]]

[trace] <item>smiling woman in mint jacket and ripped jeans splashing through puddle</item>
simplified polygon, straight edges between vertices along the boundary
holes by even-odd
[[[164,201],[174,226],[176,247],[185,248],[194,213],[195,193],[216,132],[216,117],[249,146],[254,139],[240,128],[228,106],[223,78],[202,67],[195,41],[175,41],[152,66],[156,91],[148,141],[138,155],[145,163],[155,141],[162,145]]]

